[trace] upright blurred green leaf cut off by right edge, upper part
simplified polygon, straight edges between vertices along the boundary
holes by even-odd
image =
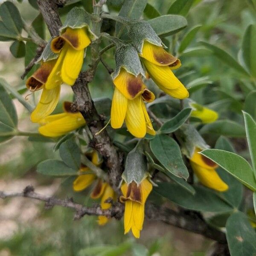
[[[247,69],[250,74],[256,78],[256,24],[251,24],[247,27],[243,43],[242,56]]]

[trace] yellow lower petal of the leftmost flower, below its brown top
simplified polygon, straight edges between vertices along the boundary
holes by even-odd
[[[40,101],[35,110],[31,113],[32,122],[39,122],[54,111],[60,96],[61,87],[56,86],[51,90],[43,89]]]

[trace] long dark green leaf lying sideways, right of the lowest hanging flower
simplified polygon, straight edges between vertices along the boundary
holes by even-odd
[[[195,195],[192,195],[177,184],[162,182],[157,185],[155,192],[186,209],[202,212],[229,212],[233,209],[213,190],[203,186],[193,186]]]

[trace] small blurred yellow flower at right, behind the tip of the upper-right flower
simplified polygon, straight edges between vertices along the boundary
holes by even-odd
[[[191,116],[201,119],[204,124],[215,122],[218,119],[217,112],[209,108],[205,108],[197,103],[191,103],[190,105],[194,108],[191,112]]]

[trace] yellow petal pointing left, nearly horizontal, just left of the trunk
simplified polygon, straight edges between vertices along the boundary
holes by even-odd
[[[47,137],[58,137],[85,125],[81,113],[66,113],[66,116],[41,126],[38,131]]]

